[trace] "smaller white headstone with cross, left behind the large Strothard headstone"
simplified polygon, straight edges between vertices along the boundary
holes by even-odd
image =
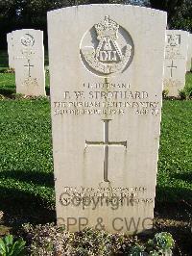
[[[43,32],[23,29],[12,32],[16,92],[45,95]]]

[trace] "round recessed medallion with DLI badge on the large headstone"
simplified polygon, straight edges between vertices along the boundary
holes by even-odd
[[[132,63],[132,57],[130,34],[109,16],[85,33],[81,42],[84,65],[100,76],[123,72]]]

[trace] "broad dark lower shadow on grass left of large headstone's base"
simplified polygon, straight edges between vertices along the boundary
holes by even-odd
[[[4,222],[12,227],[26,222],[47,223],[56,219],[55,210],[34,193],[0,187],[0,211],[5,214]]]

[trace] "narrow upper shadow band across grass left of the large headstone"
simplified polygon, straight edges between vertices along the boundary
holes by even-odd
[[[54,174],[52,172],[39,172],[34,170],[4,170],[0,171],[0,179],[12,178],[16,181],[33,183],[40,186],[54,187]]]

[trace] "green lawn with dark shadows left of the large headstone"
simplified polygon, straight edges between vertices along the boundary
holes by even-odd
[[[2,100],[0,113],[0,209],[27,219],[44,218],[45,212],[49,219],[54,205],[49,102]]]

